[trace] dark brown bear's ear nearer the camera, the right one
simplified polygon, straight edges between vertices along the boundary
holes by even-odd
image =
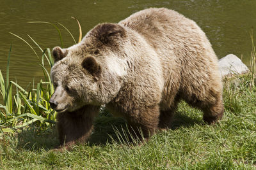
[[[101,72],[101,67],[94,59],[94,57],[86,57],[82,62],[82,67],[86,69],[94,77],[99,77]]]

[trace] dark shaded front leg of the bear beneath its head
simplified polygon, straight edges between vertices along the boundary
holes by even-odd
[[[57,129],[60,148],[68,148],[85,142],[93,130],[93,118],[99,113],[99,106],[84,106],[72,112],[58,113]]]

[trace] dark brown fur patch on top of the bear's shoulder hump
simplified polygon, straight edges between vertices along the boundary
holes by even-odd
[[[118,24],[100,24],[92,30],[93,36],[105,45],[115,43],[118,38],[125,38],[125,29]]]

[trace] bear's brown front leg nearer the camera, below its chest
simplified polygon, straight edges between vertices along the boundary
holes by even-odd
[[[138,110],[131,110],[127,113],[127,121],[131,129],[129,130],[134,137],[147,139],[158,129],[159,106],[145,106]],[[141,136],[141,132],[143,136]]]

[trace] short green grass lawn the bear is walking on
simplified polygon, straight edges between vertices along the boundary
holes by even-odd
[[[225,115],[206,125],[202,113],[180,103],[172,129],[159,132],[148,143],[125,143],[124,120],[102,111],[89,143],[72,152],[54,152],[56,131],[30,126],[4,135],[0,144],[3,169],[255,169],[256,89],[249,76],[228,80],[224,90]],[[230,100],[232,96],[232,100]],[[115,128],[113,128],[115,127]],[[125,129],[125,128],[124,128]],[[120,132],[120,134],[118,133]]]

